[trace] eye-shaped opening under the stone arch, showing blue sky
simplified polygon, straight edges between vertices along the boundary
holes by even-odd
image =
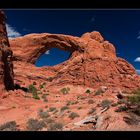
[[[58,48],[51,48],[38,57],[38,59],[35,62],[35,66],[55,66],[68,60],[70,55],[71,52],[64,51]]]

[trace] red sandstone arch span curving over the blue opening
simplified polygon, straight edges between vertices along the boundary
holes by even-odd
[[[10,40],[14,60],[34,64],[39,56],[51,48],[58,48],[73,53],[82,51],[78,37],[61,34],[30,34]]]

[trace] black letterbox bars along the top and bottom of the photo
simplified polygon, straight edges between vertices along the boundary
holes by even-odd
[[[1,0],[1,9],[140,9],[139,0]],[[119,125],[119,124],[118,124]],[[139,139],[140,131],[0,132],[0,139]]]

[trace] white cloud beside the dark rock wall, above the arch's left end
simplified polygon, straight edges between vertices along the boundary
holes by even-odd
[[[16,38],[16,37],[21,36],[21,34],[18,31],[16,31],[14,29],[14,27],[10,26],[9,24],[6,24],[6,29],[7,29],[7,34],[8,34],[9,38]]]

